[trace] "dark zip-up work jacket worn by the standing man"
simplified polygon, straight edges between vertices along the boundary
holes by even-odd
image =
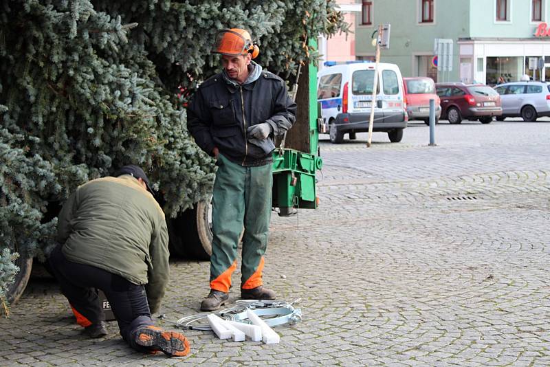
[[[242,166],[272,162],[259,146],[247,140],[248,127],[267,122],[274,136],[283,135],[296,120],[296,103],[289,98],[285,82],[263,70],[245,85],[224,80],[217,74],[204,81],[187,110],[187,127],[203,151],[212,155],[217,147],[224,157]]]

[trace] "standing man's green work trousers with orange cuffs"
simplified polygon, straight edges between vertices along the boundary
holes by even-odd
[[[263,284],[272,207],[272,164],[245,167],[218,155],[212,198],[210,288],[228,292],[243,231],[241,288]]]

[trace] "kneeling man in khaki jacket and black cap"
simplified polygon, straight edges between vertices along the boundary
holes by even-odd
[[[78,187],[59,214],[50,265],[61,291],[91,337],[107,335],[95,289],[101,289],[120,335],[137,351],[189,352],[181,333],[153,326],[168,282],[168,231],[144,171],[122,167],[115,177]]]

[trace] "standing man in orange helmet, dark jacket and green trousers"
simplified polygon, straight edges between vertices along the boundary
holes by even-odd
[[[240,28],[217,34],[214,53],[223,70],[203,82],[188,107],[195,142],[216,158],[212,197],[210,293],[202,311],[229,299],[237,245],[244,227],[241,298],[274,300],[262,271],[272,208],[274,139],[296,120],[296,104],[285,82],[252,61],[259,47]]]

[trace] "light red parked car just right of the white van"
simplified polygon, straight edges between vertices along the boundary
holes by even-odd
[[[441,116],[441,100],[435,93],[435,83],[432,78],[419,76],[415,78],[403,78],[405,100],[407,102],[408,120],[423,120],[430,124],[430,100],[435,104],[435,122],[439,122]]]

